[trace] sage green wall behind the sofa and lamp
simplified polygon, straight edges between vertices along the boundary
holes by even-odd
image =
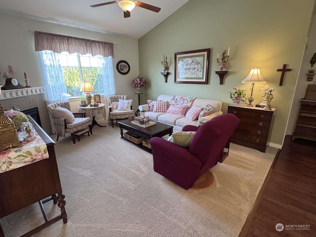
[[[228,92],[242,84],[257,66],[270,87],[275,89],[272,106],[276,116],[270,143],[282,145],[291,101],[298,78],[314,0],[190,0],[157,27],[138,40],[140,75],[149,80],[142,102],[159,94],[188,95],[223,102],[222,111],[232,103]],[[229,71],[219,84],[217,53],[231,47]],[[174,53],[210,48],[208,84],[174,83]],[[161,55],[171,58],[168,82],[160,75]],[[276,69],[286,64],[291,72]],[[255,84],[253,104],[260,103],[262,84]]]

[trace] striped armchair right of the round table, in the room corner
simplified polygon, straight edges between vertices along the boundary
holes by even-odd
[[[111,121],[112,127],[114,127],[114,120],[118,122],[120,119],[133,118],[133,107],[126,108],[125,110],[118,110],[119,100],[127,100],[127,95],[113,95],[109,96],[109,122]]]

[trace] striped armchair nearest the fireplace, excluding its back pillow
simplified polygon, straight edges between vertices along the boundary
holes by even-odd
[[[90,117],[86,118],[85,113],[73,113],[73,115],[75,116],[74,122],[68,123],[66,118],[54,118],[53,110],[56,109],[58,106],[70,111],[69,102],[51,103],[46,106],[49,115],[53,119],[53,125],[55,126],[55,129],[57,131],[56,141],[58,141],[59,136],[64,137],[66,133],[71,133],[71,137],[75,144],[76,140],[74,132],[80,131],[87,127],[89,127],[90,133],[92,134]]]

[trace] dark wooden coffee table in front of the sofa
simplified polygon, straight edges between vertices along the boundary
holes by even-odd
[[[132,124],[131,121],[133,121],[133,120],[134,120],[134,118],[129,118],[129,119],[121,120],[118,122],[118,126],[120,128],[120,138],[126,142],[129,142],[129,143],[143,149],[146,152],[149,152],[149,153],[152,153],[152,149],[143,146],[142,143],[135,144],[129,140],[124,139],[123,129],[126,131],[129,131],[131,133],[134,133],[136,135],[139,135],[142,138],[148,139],[148,140],[150,140],[153,137],[163,137],[163,136],[168,135],[168,134],[171,136],[172,131],[173,131],[173,126],[167,125],[167,124],[164,124],[161,122],[157,122],[156,125],[143,128],[141,126],[137,126],[135,124]]]

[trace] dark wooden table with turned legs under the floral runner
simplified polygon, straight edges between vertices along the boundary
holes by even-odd
[[[55,143],[31,116],[28,116],[28,118],[41,139],[46,143],[49,158],[0,173],[0,218],[35,202],[40,203],[45,223],[26,233],[23,237],[30,237],[60,219],[63,219],[63,222],[67,223],[66,201],[64,200],[65,195],[62,194],[59,179],[54,150]],[[47,199],[41,201],[46,197],[52,197],[48,199],[53,199],[54,204],[58,202],[57,205],[61,209],[61,214],[51,220],[47,219],[41,205],[42,202],[47,201]],[[0,237],[4,237],[1,226]]]

